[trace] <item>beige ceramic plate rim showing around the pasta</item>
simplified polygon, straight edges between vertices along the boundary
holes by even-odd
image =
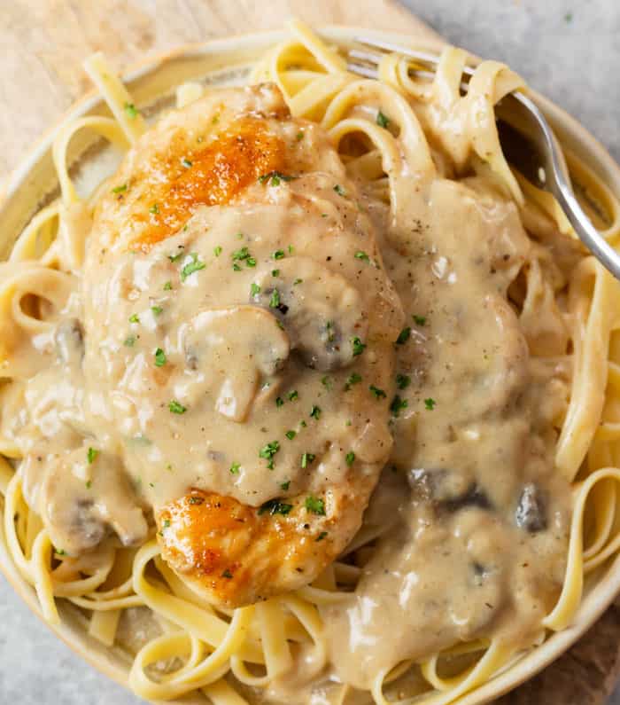
[[[335,43],[352,43],[355,36],[364,35],[400,46],[415,46],[430,51],[440,49],[437,40],[420,40],[407,35],[373,32],[368,29],[324,27],[321,33]],[[136,105],[140,106],[147,116],[156,117],[162,109],[171,105],[174,88],[182,82],[205,81],[214,85],[243,82],[244,74],[252,60],[258,58],[267,47],[283,39],[283,36],[283,32],[269,32],[185,46],[145,60],[125,75],[125,81],[136,99]],[[517,71],[519,69],[514,68]],[[551,121],[562,145],[592,168],[620,200],[620,168],[616,162],[577,121],[545,98],[536,95],[534,98]],[[4,198],[0,203],[0,259],[8,255],[12,242],[32,215],[58,194],[58,181],[51,160],[51,145],[58,129],[67,121],[91,114],[109,114],[102,99],[96,95],[87,96],[75,104],[58,126],[51,129],[38,145],[35,145],[35,149],[4,184]],[[81,132],[72,142],[69,159],[77,170],[78,184],[86,188],[89,184],[96,184],[101,176],[110,172],[115,155],[110,148],[97,145],[96,138]],[[1,526],[0,522],[0,568],[28,607],[36,615],[42,616],[35,591],[19,576],[10,559]],[[610,605],[619,591],[620,556],[596,571],[595,575],[589,576],[582,605],[570,629],[554,634],[543,645],[523,655],[520,661],[489,683],[463,696],[459,705],[482,705],[534,676],[574,644]],[[59,612],[62,623],[52,628],[58,637],[98,670],[120,684],[127,685],[128,656],[120,649],[106,648],[89,637],[86,631],[87,621],[76,607],[61,600]],[[196,700],[198,701],[205,702]],[[188,702],[194,701],[183,699],[183,703]]]

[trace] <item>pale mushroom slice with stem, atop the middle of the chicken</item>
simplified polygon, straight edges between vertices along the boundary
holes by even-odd
[[[194,391],[216,396],[215,409],[228,419],[247,417],[261,378],[288,358],[289,339],[278,320],[258,306],[202,311],[185,333],[188,367],[203,373]]]

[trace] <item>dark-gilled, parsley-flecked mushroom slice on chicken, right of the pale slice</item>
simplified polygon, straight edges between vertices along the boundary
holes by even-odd
[[[327,372],[353,361],[354,338],[368,331],[360,293],[309,257],[287,257],[260,272],[252,295],[278,317],[308,367]]]

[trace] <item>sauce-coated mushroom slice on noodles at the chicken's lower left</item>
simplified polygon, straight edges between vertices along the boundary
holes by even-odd
[[[51,460],[39,501],[53,543],[71,555],[95,548],[111,529],[126,546],[148,533],[127,474],[104,453],[92,463],[84,448]]]

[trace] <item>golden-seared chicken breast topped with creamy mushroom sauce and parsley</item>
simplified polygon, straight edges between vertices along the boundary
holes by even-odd
[[[272,85],[169,114],[100,201],[83,295],[89,413],[165,560],[229,607],[311,582],[389,456],[402,326],[329,137]]]

